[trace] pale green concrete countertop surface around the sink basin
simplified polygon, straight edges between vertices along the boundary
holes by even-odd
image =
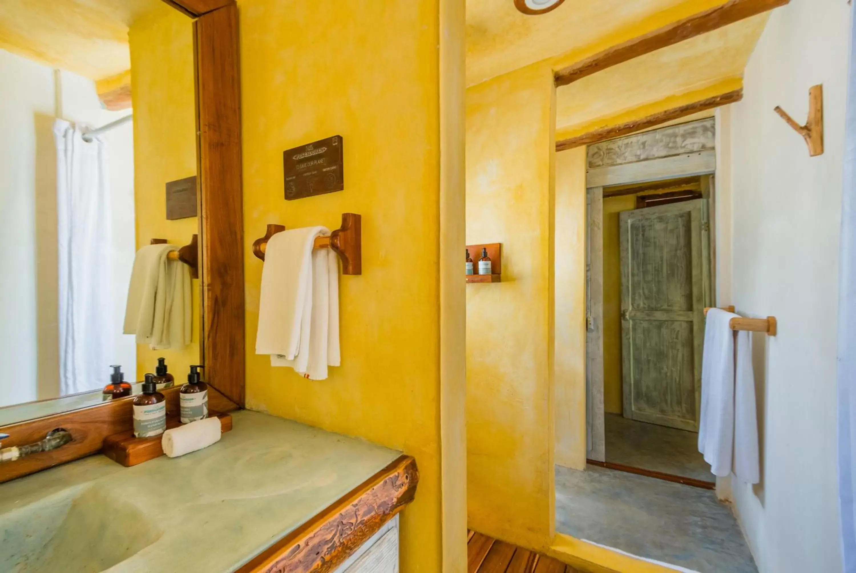
[[[158,530],[109,571],[230,571],[401,455],[271,415],[232,415],[231,432],[187,456],[123,468],[96,455],[10,481],[0,486],[0,513],[69,488],[109,490]]]

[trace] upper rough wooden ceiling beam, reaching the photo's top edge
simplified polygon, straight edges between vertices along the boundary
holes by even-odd
[[[790,0],[729,0],[721,6],[672,22],[638,38],[629,39],[627,42],[598,52],[591,57],[580,60],[580,62],[569,65],[567,68],[562,68],[556,71],[556,86],[567,86],[571,82],[586,77],[586,75],[595,74],[603,69],[632,60],[634,57],[762,14],[784,6],[788,2]]]

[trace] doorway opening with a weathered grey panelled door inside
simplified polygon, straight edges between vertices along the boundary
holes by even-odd
[[[589,463],[714,486],[696,447],[704,307],[713,304],[712,190],[710,174],[588,189],[590,203],[601,202],[590,228],[602,235],[599,246],[590,242],[589,281],[599,267],[602,285],[590,316],[602,328],[590,329],[588,352],[603,363],[602,382],[592,377],[601,387],[589,386],[603,402]]]

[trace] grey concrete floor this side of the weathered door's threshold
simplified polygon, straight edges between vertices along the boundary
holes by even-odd
[[[758,573],[714,492],[643,475],[556,466],[556,529],[699,573]]]

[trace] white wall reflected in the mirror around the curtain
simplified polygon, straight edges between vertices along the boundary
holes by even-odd
[[[0,51],[0,406],[56,397],[59,392],[56,260],[55,118],[97,127],[127,112],[101,109],[92,81]],[[117,297],[124,310],[134,254],[133,138],[131,124],[108,134]],[[118,307],[119,304],[117,303]],[[119,363],[134,372],[133,337],[116,322]],[[104,365],[104,380],[109,369]],[[14,380],[14,383],[13,383]]]

